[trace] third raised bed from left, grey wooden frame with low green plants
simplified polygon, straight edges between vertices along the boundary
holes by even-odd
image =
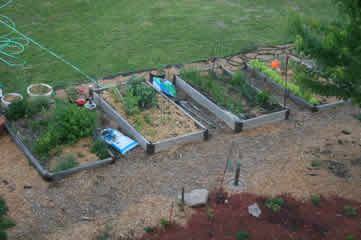
[[[174,85],[235,132],[288,116],[287,109],[252,86],[244,76],[233,76],[224,70],[183,72],[175,76]]]

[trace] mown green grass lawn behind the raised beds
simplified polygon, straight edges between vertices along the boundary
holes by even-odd
[[[330,0],[14,0],[0,14],[82,71],[102,78],[290,41],[281,18],[291,3],[307,15],[333,16]],[[35,45],[21,58],[27,62],[23,67],[0,63],[0,82],[7,90],[31,82],[59,86],[86,80]]]

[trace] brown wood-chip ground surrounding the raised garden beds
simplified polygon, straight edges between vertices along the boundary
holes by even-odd
[[[235,70],[246,55],[257,57],[283,49],[286,48],[263,48],[217,59],[217,63]],[[168,71],[179,69],[172,67]],[[117,84],[125,78],[119,76],[101,83]],[[87,85],[80,87],[86,89]],[[61,94],[62,91],[57,92]],[[217,126],[210,129],[208,141],[154,155],[137,147],[112,165],[51,183],[39,177],[4,134],[0,136],[0,195],[9,205],[10,217],[17,222],[9,231],[9,239],[89,240],[104,232],[105,225],[110,227],[111,239],[132,235],[132,229],[134,234],[143,234],[143,227],[169,217],[182,187],[190,191],[219,185],[232,142],[241,153],[232,160],[242,162],[244,191],[268,196],[290,193],[300,200],[323,194],[359,201],[361,128],[360,121],[351,116],[359,109],[345,104],[311,113],[291,101],[287,106],[291,109],[287,121],[239,134]],[[327,162],[327,167],[317,165],[321,161],[332,163]],[[227,173],[226,179],[231,176]],[[189,216],[189,212],[183,218],[178,214],[177,221]]]

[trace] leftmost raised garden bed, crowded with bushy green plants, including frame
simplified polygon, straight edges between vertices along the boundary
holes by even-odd
[[[46,180],[112,163],[113,154],[98,138],[99,112],[47,98],[13,103],[5,128]]]

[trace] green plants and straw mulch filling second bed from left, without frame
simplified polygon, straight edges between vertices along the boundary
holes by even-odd
[[[149,141],[199,131],[192,119],[147,85],[143,77],[132,77],[117,90],[104,91],[102,97]]]

